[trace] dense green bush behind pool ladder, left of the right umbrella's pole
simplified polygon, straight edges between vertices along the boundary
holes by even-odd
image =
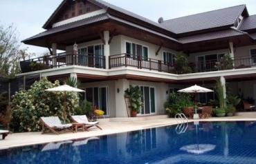
[[[184,107],[194,106],[191,94],[172,93],[167,102],[165,102],[165,110],[169,116],[174,117],[175,114],[183,112]]]

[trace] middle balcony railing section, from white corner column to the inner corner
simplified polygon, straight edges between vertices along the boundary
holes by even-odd
[[[142,56],[134,56],[132,54],[116,54],[109,57],[109,68],[117,68],[121,66],[131,66],[138,69],[157,70],[159,72],[171,72],[173,65],[161,60],[145,58]]]

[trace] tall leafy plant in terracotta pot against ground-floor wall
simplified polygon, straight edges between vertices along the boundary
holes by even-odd
[[[137,116],[138,112],[140,112],[140,107],[143,106],[143,102],[141,101],[142,93],[138,86],[130,85],[127,90],[125,90],[125,97],[130,101],[131,107],[131,116]]]

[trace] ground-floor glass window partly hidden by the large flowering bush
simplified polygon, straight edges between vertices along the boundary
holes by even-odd
[[[93,103],[94,107],[98,107],[104,111],[104,115],[108,115],[108,88],[86,88],[85,99]]]

